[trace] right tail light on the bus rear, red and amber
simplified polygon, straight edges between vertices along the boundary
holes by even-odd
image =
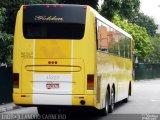
[[[94,75],[87,75],[87,90],[94,90]]]

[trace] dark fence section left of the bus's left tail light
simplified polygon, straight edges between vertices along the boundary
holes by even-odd
[[[0,67],[0,104],[12,102],[12,68]]]

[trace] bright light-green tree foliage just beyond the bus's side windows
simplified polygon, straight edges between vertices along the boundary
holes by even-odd
[[[146,29],[136,24],[129,23],[119,16],[114,16],[112,21],[117,26],[131,34],[135,41],[135,52],[140,60],[144,61],[146,56],[149,55],[153,49]]]

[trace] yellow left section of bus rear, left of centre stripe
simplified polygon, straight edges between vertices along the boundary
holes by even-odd
[[[14,51],[13,51],[13,72],[20,73],[19,89],[13,89],[13,100],[18,104],[32,104],[32,74],[27,73],[24,69],[24,61],[28,59],[28,64],[32,64],[33,44],[31,40],[26,40],[22,34],[22,17],[23,11],[18,11],[16,20],[16,29],[14,33]],[[25,61],[26,62],[26,61]],[[30,93],[30,97],[21,98],[23,93]]]

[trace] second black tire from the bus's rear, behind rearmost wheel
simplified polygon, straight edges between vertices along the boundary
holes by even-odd
[[[114,110],[114,103],[115,103],[115,92],[114,92],[114,88],[112,88],[111,95],[110,95],[109,113],[113,112],[113,110]]]

